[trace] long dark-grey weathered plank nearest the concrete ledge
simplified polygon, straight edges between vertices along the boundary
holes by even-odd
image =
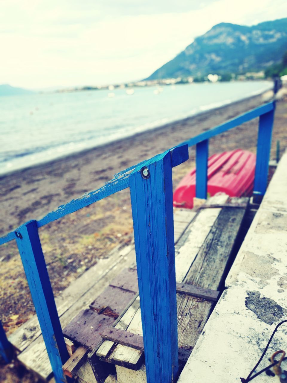
[[[184,283],[220,289],[244,214],[243,209],[222,209]],[[178,294],[177,304],[179,347],[188,344],[191,352],[215,303]]]

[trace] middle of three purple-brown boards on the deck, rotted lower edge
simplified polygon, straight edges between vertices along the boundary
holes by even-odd
[[[95,301],[90,304],[90,308],[96,310],[98,314],[104,314],[116,319],[132,298],[134,298],[135,294],[136,292],[134,291],[108,286]]]

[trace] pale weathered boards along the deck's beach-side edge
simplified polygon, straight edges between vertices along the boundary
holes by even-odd
[[[196,215],[191,210],[177,209],[174,214],[174,241],[179,237]],[[125,268],[135,265],[134,243],[116,247],[107,258],[100,259],[55,298],[61,326],[64,329],[71,319],[79,314],[100,295],[109,283]],[[46,351],[37,316],[29,319],[8,338],[15,347],[18,360],[40,378],[47,380],[52,368]]]

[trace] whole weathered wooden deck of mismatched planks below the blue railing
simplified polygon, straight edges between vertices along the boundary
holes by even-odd
[[[229,262],[235,255],[233,250],[247,205],[248,198],[228,199],[226,195],[218,195],[210,198],[198,212],[175,210],[181,367],[215,306],[217,291],[222,289]],[[145,366],[134,246],[116,249],[102,262],[56,299],[64,336],[76,346],[64,371],[68,376],[77,377],[80,383],[142,383]],[[69,299],[71,295],[73,299]],[[14,345],[17,344],[18,349],[23,347],[18,359],[47,379],[52,369],[39,327],[32,327],[34,325],[32,318],[10,337],[10,341],[13,337]],[[104,339],[113,329],[117,338],[114,341]],[[121,380],[122,374],[125,378]]]

